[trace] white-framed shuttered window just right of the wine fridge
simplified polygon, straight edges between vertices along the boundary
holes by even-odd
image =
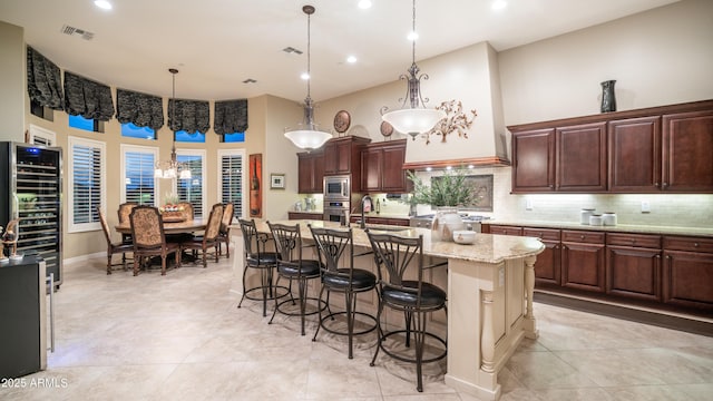
[[[70,233],[100,229],[97,206],[106,205],[106,144],[69,137],[69,228]]]

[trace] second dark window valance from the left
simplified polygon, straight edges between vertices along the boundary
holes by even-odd
[[[65,110],[72,116],[108,121],[114,117],[111,88],[65,71]]]

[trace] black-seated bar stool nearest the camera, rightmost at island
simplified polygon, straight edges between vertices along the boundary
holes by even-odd
[[[446,340],[428,332],[426,323],[428,314],[447,311],[446,292],[423,281],[423,273],[428,268],[445,266],[447,262],[423,266],[423,236],[402,237],[393,234],[373,234],[367,231],[369,242],[374,252],[374,261],[379,274],[379,311],[377,314],[378,345],[370,365],[373,366],[379,351],[402,362],[416,363],[417,387],[423,391],[421,365],[446,358]],[[382,274],[381,270],[385,271]],[[384,307],[402,312],[406,319],[404,329],[385,331],[381,324]],[[387,340],[402,341],[406,349],[411,349],[413,335],[413,352],[400,352],[394,346],[385,346]],[[432,356],[423,358],[427,340],[432,349]],[[440,343],[440,344],[439,344]],[[442,348],[442,349],[441,349]]]

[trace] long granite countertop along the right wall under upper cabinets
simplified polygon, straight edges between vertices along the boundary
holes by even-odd
[[[484,222],[489,224],[487,222]],[[496,225],[511,225],[521,227],[563,228],[563,229],[586,229],[606,233],[636,233],[636,234],[658,234],[658,235],[695,235],[713,237],[713,228],[703,227],[681,227],[681,226],[651,226],[617,224],[615,226],[592,226],[572,222],[538,222],[538,221],[504,221],[491,222]]]

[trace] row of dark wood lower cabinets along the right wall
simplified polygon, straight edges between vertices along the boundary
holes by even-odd
[[[713,313],[713,237],[484,224],[539,238],[535,287],[676,312]]]

